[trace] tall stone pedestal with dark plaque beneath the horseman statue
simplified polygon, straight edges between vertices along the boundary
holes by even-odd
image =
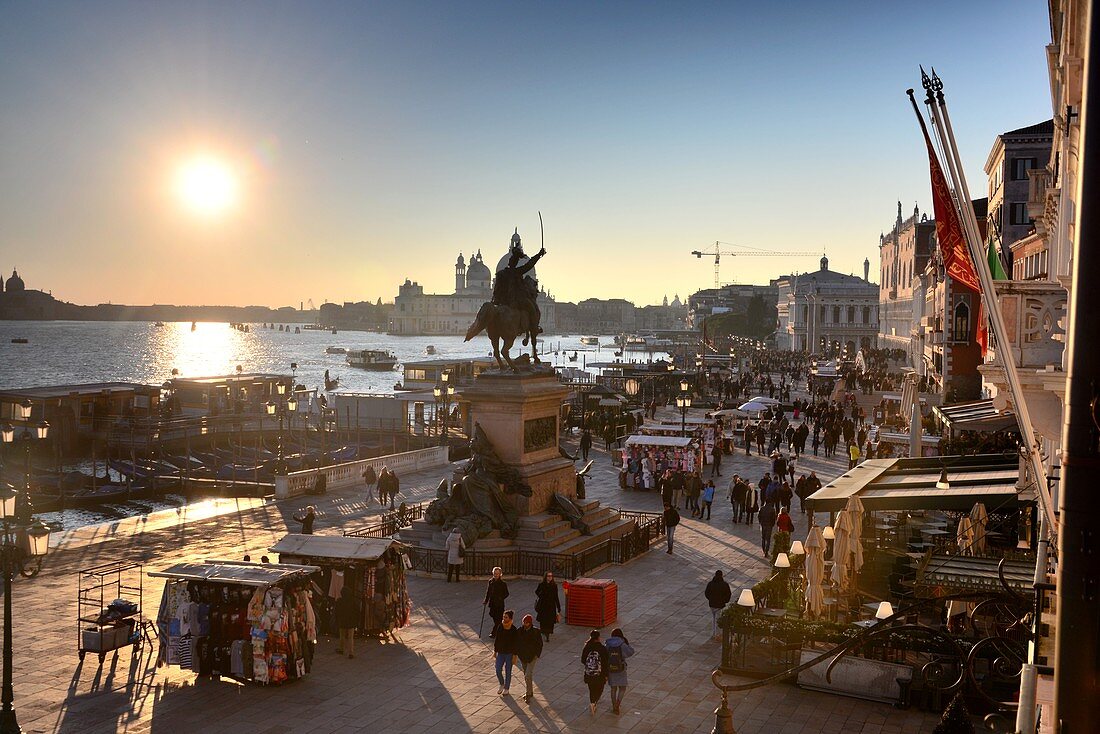
[[[509,495],[520,517],[546,512],[556,492],[576,495],[573,462],[558,451],[566,395],[569,388],[552,370],[483,372],[462,391],[472,421],[481,425],[501,460],[531,487],[530,497]]]

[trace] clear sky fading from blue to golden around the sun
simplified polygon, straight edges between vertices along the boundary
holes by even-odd
[[[716,240],[878,271],[930,199],[935,65],[970,189],[1050,117],[1041,0],[0,2],[0,267],[75,303],[449,293],[518,227],[560,299],[713,284]],[[216,161],[230,199],[188,199]],[[220,175],[220,174],[218,174]],[[186,188],[186,187],[185,187]],[[211,204],[213,206],[211,206]],[[743,258],[762,283],[811,258]]]

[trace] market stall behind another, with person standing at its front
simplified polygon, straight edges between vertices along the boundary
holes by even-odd
[[[317,604],[321,632],[337,634],[333,610],[350,588],[361,610],[359,633],[384,635],[408,625],[413,611],[400,547],[392,538],[289,534],[271,550],[283,562],[318,569],[314,580],[324,593]]]

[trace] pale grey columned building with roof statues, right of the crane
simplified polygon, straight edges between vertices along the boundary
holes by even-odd
[[[790,351],[854,358],[872,348],[879,333],[879,287],[864,277],[828,269],[822,256],[816,272],[776,280],[779,329],[776,346]]]

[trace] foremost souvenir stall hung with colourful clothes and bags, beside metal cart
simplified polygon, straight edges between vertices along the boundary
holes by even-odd
[[[276,684],[312,667],[316,566],[206,560],[152,571],[166,579],[158,662],[200,676]]]

